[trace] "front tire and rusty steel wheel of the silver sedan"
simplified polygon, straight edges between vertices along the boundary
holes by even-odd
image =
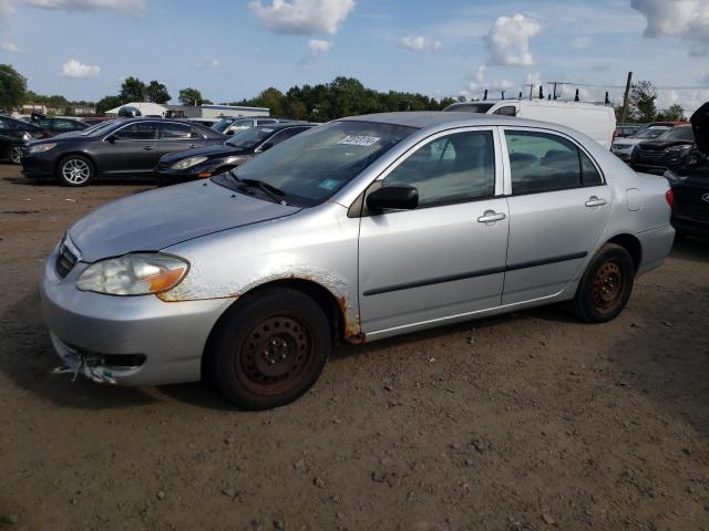
[[[312,387],[331,351],[330,323],[317,302],[289,288],[267,289],[219,322],[206,379],[242,409],[270,409]]]

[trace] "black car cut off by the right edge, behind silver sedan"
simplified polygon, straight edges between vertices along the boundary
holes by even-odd
[[[690,118],[695,134],[695,148],[676,171],[668,170],[675,202],[672,226],[677,239],[688,235],[709,237],[709,102]]]

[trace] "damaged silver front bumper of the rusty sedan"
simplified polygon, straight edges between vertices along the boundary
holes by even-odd
[[[40,283],[42,314],[64,366],[95,382],[162,385],[198,381],[209,332],[233,299],[163,302],[154,295],[112,296],[78,290],[88,264],[62,279],[56,249]],[[112,360],[140,358],[134,366]]]

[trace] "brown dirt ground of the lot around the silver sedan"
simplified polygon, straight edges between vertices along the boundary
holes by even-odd
[[[612,323],[546,308],[341,347],[297,403],[243,413],[50,374],[42,261],[150,187],[0,166],[0,529],[709,530],[708,242]]]

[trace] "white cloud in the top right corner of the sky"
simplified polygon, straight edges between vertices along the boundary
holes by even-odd
[[[631,0],[647,20],[648,38],[678,37],[691,43],[690,55],[709,53],[709,0]]]

